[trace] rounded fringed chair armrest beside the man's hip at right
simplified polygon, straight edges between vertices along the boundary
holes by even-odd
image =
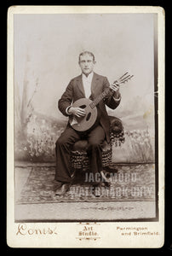
[[[109,116],[110,120],[110,140],[111,144],[115,144],[115,146],[121,146],[121,143],[124,143],[124,131],[123,131],[123,123],[121,119],[118,119],[114,116]]]

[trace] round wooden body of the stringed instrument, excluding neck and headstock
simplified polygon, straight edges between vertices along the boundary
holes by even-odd
[[[73,103],[74,108],[83,108],[85,111],[85,116],[83,117],[69,117],[69,123],[72,128],[76,131],[87,131],[94,124],[97,119],[97,108],[91,108],[89,105],[92,101],[87,98],[81,98]]]

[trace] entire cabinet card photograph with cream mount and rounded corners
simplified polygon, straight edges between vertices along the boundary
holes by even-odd
[[[164,10],[8,12],[9,247],[162,247]]]

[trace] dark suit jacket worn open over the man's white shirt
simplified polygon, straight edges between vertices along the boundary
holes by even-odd
[[[90,99],[95,100],[96,96],[99,96],[104,90],[106,90],[106,88],[109,87],[109,85],[110,84],[106,77],[94,73],[91,84]],[[84,97],[85,94],[83,89],[82,75],[79,75],[78,77],[71,80],[71,82],[66,87],[66,91],[61,96],[58,102],[60,112],[67,116],[66,108],[71,106],[72,102],[76,102],[78,99]],[[119,102],[120,101],[116,102],[112,96],[106,96],[106,98],[104,98],[104,100],[101,101],[97,106],[97,108],[100,110],[100,125],[103,127],[106,133],[106,140],[108,143],[110,142],[110,123],[105,105],[107,105],[109,108],[115,109],[118,107]]]

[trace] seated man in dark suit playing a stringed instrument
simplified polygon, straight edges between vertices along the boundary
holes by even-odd
[[[56,142],[56,170],[55,181],[57,181],[56,195],[63,195],[70,188],[72,181],[72,168],[70,164],[70,151],[72,145],[81,138],[87,138],[89,147],[87,153],[89,156],[89,169],[94,175],[101,172],[102,168],[102,149],[101,143],[106,139],[109,143],[109,119],[106,113],[105,104],[112,109],[118,107],[121,96],[119,93],[119,84],[110,85],[106,77],[93,72],[95,66],[95,56],[85,51],[79,55],[79,66],[82,74],[72,79],[66,87],[66,91],[59,101],[60,112],[65,116],[83,117],[85,111],[83,108],[73,108],[72,102],[80,98],[89,98],[94,100],[106,88],[111,88],[113,94],[106,96],[97,106],[98,115],[95,125],[89,131],[75,131],[70,123],[66,130],[61,134]],[[93,182],[93,186],[100,186],[102,183]]]

